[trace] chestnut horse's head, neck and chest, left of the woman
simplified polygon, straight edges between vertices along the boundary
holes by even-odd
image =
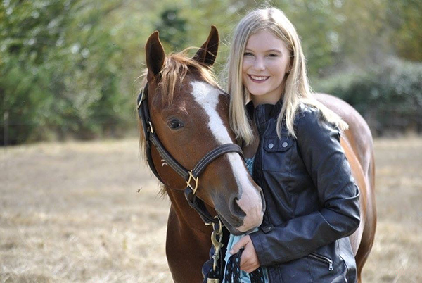
[[[229,95],[210,72],[218,45],[218,32],[212,26],[193,58],[181,54],[166,56],[158,32],[151,34],[145,46],[146,87],[139,98],[139,109],[149,112],[150,119],[140,123],[140,127],[141,132],[148,128],[150,134],[155,134],[162,146],[148,146],[148,134],[141,134],[141,150],[146,159],[150,156],[150,168],[162,180],[172,203],[166,255],[174,282],[202,282],[201,267],[209,259],[212,244],[212,229],[204,225],[203,218],[186,201],[186,185],[192,188],[190,195],[198,196],[211,216],[219,215],[232,234],[259,227],[264,215],[262,189],[252,180],[233,146],[236,137],[229,127]],[[148,101],[141,107],[145,93]],[[221,146],[227,145],[235,152],[209,158],[209,153],[221,153]],[[159,151],[172,158],[163,158]],[[204,160],[212,162],[199,176],[188,173],[186,180],[176,172],[183,172],[179,168],[195,171]],[[176,165],[174,170],[174,163],[181,166]]]

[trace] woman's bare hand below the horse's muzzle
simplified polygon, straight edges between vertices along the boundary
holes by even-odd
[[[253,246],[249,235],[246,235],[234,244],[230,253],[234,255],[235,253],[238,253],[241,248],[244,248],[241,257],[241,270],[251,273],[260,267],[260,261],[258,260],[255,246]]]

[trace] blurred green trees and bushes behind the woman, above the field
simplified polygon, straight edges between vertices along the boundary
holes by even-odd
[[[316,92],[351,103],[376,136],[422,132],[418,0],[3,0],[0,143],[133,134],[151,32],[181,51],[216,25],[218,74],[234,26],[264,4],[297,27]]]

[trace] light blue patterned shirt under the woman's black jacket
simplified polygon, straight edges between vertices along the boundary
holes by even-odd
[[[245,164],[246,164],[246,168],[248,168],[249,174],[252,175],[252,171],[253,171],[253,162],[255,161],[255,156],[253,156],[252,158],[245,158]],[[257,231],[257,229],[255,229],[253,232]],[[236,244],[242,237],[244,237],[245,235],[241,235],[241,236],[234,236],[233,234],[230,234],[230,238],[229,238],[229,243],[227,244],[227,253],[226,256],[224,258],[224,260],[226,260],[226,272],[227,270],[237,270],[238,269],[238,265],[240,265],[240,263],[238,262],[240,260],[240,256],[238,256],[237,258],[234,258],[234,260],[229,260],[231,256],[231,254],[228,252],[231,250],[231,247],[234,246],[234,244]],[[233,257],[235,257],[236,255],[239,255],[239,253],[236,253],[233,255]],[[236,260],[238,260],[236,262]],[[228,265],[233,265],[236,264],[237,266],[236,268],[232,267],[232,266],[228,266]],[[268,276],[267,276],[267,270],[264,267],[259,268],[260,272],[262,271],[264,273],[264,283],[268,283]],[[224,280],[223,282],[241,282],[241,283],[251,283],[251,282],[256,282],[255,280],[251,280],[250,278],[250,274],[244,272],[243,270],[241,270],[240,273],[240,281],[238,278],[226,278],[227,273],[224,272]]]

